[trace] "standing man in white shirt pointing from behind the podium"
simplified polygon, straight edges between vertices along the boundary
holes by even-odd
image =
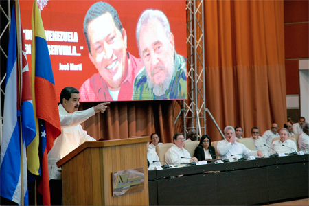
[[[62,171],[61,168],[57,167],[56,162],[84,141],[96,141],[96,139],[87,135],[80,124],[95,113],[104,113],[107,108],[106,104],[110,103],[101,103],[87,110],[78,111],[80,105],[79,93],[78,89],[74,87],[65,87],[60,93],[58,109],[61,134],[55,139],[54,146],[47,155],[52,205],[61,205],[62,198]]]

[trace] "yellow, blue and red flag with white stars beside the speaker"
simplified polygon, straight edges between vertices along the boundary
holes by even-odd
[[[43,21],[36,0],[32,8],[31,70],[36,128],[39,129],[36,130],[36,138],[32,141],[31,147],[28,146],[27,148],[28,170],[34,175],[40,175],[39,170],[41,169],[42,179],[38,186],[38,192],[43,194],[43,205],[50,205],[47,153],[52,149],[54,140],[60,135],[61,126],[52,64],[49,58]],[[40,142],[41,151],[38,152]],[[41,168],[38,154],[42,155]]]

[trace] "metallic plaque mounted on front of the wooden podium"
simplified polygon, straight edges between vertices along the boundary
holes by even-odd
[[[144,190],[144,168],[113,172],[113,196]]]

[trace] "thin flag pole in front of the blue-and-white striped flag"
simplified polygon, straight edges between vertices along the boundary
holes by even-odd
[[[16,36],[17,36],[17,82],[18,82],[18,87],[19,87],[19,102],[17,102],[17,104],[19,104],[19,108],[21,108],[21,36],[19,34],[21,34],[20,30],[21,30],[21,19],[19,16],[19,0],[15,1],[15,16],[16,16]],[[21,115],[23,115],[21,113]],[[23,184],[24,184],[24,179],[23,179],[23,130],[22,130],[22,124],[21,124],[21,115],[19,115],[19,131],[20,131],[20,142],[21,142],[21,205],[25,205],[24,203],[24,193],[25,191],[23,190]]]

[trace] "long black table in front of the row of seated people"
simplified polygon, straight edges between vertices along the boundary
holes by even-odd
[[[148,171],[148,179],[150,205],[269,203],[309,196],[309,155]]]

